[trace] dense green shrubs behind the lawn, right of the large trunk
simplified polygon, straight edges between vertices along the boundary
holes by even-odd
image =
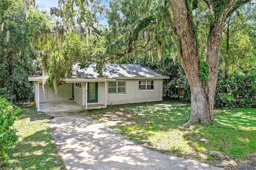
[[[256,71],[219,73],[215,103],[221,107],[256,107]]]

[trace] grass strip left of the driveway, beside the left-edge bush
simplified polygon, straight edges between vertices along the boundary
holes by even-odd
[[[39,115],[34,106],[20,105],[22,113],[14,122],[18,142],[8,150],[8,170],[66,169],[51,136],[50,119]]]

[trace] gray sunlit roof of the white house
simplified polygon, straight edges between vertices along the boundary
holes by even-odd
[[[138,64],[105,64],[102,67],[102,75],[96,71],[96,64],[91,64],[87,69],[80,69],[78,64],[73,67],[73,78],[98,79],[107,78],[168,78],[148,67]]]

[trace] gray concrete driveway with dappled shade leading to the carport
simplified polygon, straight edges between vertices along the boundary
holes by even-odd
[[[148,150],[84,115],[54,117],[52,128],[68,170],[223,170]]]

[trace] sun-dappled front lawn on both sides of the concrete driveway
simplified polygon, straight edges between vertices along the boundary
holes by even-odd
[[[14,124],[20,139],[8,151],[6,169],[66,169],[51,136],[50,119],[38,115],[35,107],[22,109]],[[224,168],[256,161],[256,109],[216,109],[213,125],[185,128],[189,112],[188,103],[163,101],[109,106],[87,114],[158,152]],[[209,151],[222,152],[224,160],[210,156]]]

